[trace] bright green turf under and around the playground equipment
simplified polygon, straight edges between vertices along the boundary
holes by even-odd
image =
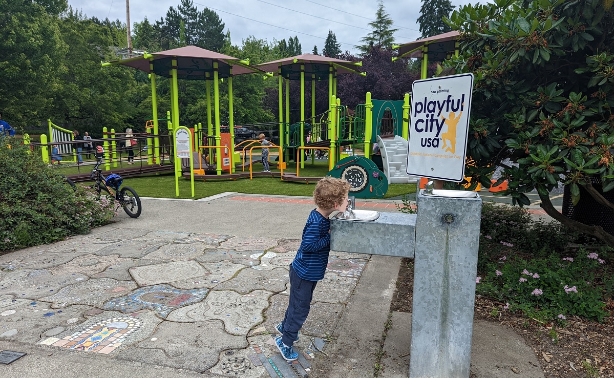
[[[287,172],[296,172],[296,166],[289,165]],[[260,171],[262,165],[256,164],[255,171]],[[271,169],[275,172],[278,170]],[[321,177],[328,172],[327,161],[316,161],[313,166],[311,162],[305,164],[305,169],[301,169],[300,176]],[[194,180],[195,199],[217,195],[225,191],[236,191],[239,193],[251,193],[259,195],[286,195],[286,196],[312,196],[316,183],[288,182],[281,181],[273,177],[254,177],[253,180],[216,180],[207,179]],[[147,175],[141,177],[129,177],[123,180],[123,185],[128,185],[142,197],[157,198],[177,198],[175,196],[175,179],[172,173],[160,175]],[[384,198],[401,196],[408,193],[416,193],[416,184],[392,184],[388,186],[388,192]],[[179,197],[192,198],[190,180],[184,177],[179,178]]]

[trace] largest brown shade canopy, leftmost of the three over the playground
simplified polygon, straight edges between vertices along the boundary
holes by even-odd
[[[218,63],[217,72],[220,78],[229,77],[230,69],[232,69],[233,76],[253,74],[254,72],[265,73],[260,68],[240,63],[240,59],[197,46],[173,48],[172,50],[151,53],[151,55],[153,56],[151,60],[149,57],[139,56],[138,58],[112,61],[110,63],[134,67],[145,72],[152,72],[149,68],[149,63],[153,63],[153,73],[164,77],[171,77],[172,61],[176,59],[177,79],[184,80],[207,80],[206,73],[208,72],[210,74],[209,80],[212,80],[214,61]]]

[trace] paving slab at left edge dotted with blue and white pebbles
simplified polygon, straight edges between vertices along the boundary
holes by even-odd
[[[10,308],[0,307],[0,334],[14,329],[18,332],[14,336],[2,339],[32,344],[41,341],[41,335],[53,328],[65,328],[84,322],[85,318],[81,315],[93,308],[69,306],[66,309],[55,310],[49,308],[49,303],[23,299],[16,300],[12,304]]]

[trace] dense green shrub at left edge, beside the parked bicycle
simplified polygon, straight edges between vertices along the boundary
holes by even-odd
[[[88,233],[109,223],[115,204],[104,202],[91,190],[73,191],[15,138],[0,138],[0,252]]]

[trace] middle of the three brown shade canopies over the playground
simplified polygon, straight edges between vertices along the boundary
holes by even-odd
[[[335,64],[337,74],[356,74],[359,66],[356,63],[341,60],[336,58],[328,58],[327,56],[315,54],[301,54],[274,60],[268,63],[257,64],[256,67],[264,71],[274,72],[279,75],[279,66],[281,64],[281,75],[286,79],[300,80],[301,64],[305,65],[305,80],[311,80],[311,74],[316,75],[316,80],[328,79],[328,67],[330,64]]]

